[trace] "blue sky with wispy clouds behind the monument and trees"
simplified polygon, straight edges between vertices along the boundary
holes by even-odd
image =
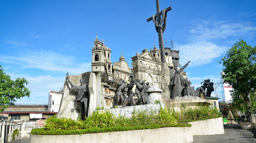
[[[167,1],[172,7],[163,34],[170,36],[180,63],[192,85],[204,79],[219,83],[219,63],[239,39],[256,45],[256,1]],[[111,61],[121,52],[131,67],[131,57],[153,44],[158,35],[152,21],[156,1],[1,1],[0,65],[15,79],[29,81],[29,98],[17,103],[47,104],[48,91],[63,87],[65,74],[91,70],[91,50],[96,32],[111,48]],[[221,96],[221,88],[217,89]]]

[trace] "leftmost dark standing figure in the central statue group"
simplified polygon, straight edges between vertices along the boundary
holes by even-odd
[[[122,80],[118,83],[118,87],[116,89],[116,96],[115,96],[115,106],[119,105],[119,102],[121,101],[122,107],[126,106],[126,97],[125,97],[125,90],[126,90],[126,81]]]

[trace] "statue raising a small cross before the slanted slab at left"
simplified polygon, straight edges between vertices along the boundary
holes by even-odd
[[[80,86],[77,86],[77,85],[74,85],[70,79],[68,79],[68,74],[67,74],[67,81],[68,83],[71,84],[72,88],[71,88],[71,91],[77,93],[76,95],[76,101],[75,101],[75,104],[78,104],[79,102],[83,103],[84,105],[84,111],[81,113],[84,113],[85,116],[87,116],[88,114],[88,101],[89,101],[89,96],[87,94],[87,86],[86,84],[84,83],[84,80],[83,79],[80,79],[79,83],[81,84]],[[68,86],[68,85],[67,85]],[[81,107],[79,107],[80,109]]]

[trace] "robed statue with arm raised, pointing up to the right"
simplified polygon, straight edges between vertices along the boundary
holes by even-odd
[[[178,69],[178,68],[174,68],[175,70],[175,75],[174,75],[174,79],[171,82],[171,85],[173,86],[172,89],[172,95],[170,98],[174,98],[174,97],[182,97],[182,90],[183,90],[183,81],[182,81],[182,75],[180,75],[180,73],[182,72],[183,69],[185,69],[186,67],[188,67],[190,61],[188,63],[186,63],[182,68]]]

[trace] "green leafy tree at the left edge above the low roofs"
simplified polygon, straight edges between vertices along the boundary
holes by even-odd
[[[14,105],[14,102],[30,95],[30,91],[25,87],[28,84],[25,78],[10,79],[10,76],[4,73],[0,65],[0,112]]]

